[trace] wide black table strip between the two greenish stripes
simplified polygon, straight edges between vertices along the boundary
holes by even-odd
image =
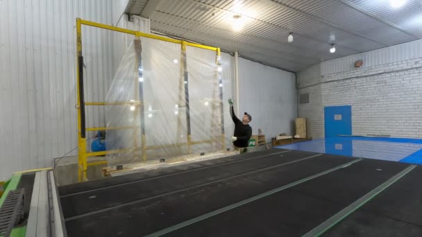
[[[365,159],[166,236],[302,236],[407,166]]]

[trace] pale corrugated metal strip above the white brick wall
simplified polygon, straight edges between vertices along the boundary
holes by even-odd
[[[339,73],[341,71],[355,69],[354,66],[357,60],[364,60],[363,67],[373,67],[379,64],[399,62],[414,58],[422,58],[422,40],[415,40],[404,44],[389,46],[384,49],[377,49],[344,58],[321,62],[321,73],[322,75],[328,75],[331,73]]]

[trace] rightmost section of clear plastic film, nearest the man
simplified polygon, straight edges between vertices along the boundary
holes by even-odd
[[[221,70],[216,52],[187,46],[187,81],[192,151],[212,152],[222,149]]]

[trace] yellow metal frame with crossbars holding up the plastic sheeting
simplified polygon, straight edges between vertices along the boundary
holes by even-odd
[[[82,26],[92,26],[96,28],[102,28],[105,30],[112,30],[120,33],[126,33],[130,35],[135,35],[135,37],[147,37],[155,40],[162,40],[165,42],[171,42],[174,44],[180,44],[182,46],[183,50],[186,50],[186,46],[193,46],[200,49],[207,49],[211,51],[215,51],[217,55],[217,64],[220,62],[221,58],[221,51],[219,48],[212,47],[212,46],[205,46],[201,44],[194,44],[191,42],[186,42],[184,40],[174,40],[167,37],[162,37],[158,35],[150,35],[147,33],[142,33],[135,30],[128,30],[124,28],[119,28],[115,26],[108,26],[105,24],[100,24],[92,21],[86,21],[84,19],[77,18],[76,19],[76,58],[82,57]],[[94,166],[98,164],[107,164],[107,161],[99,161],[99,162],[93,162],[88,163],[87,158],[88,157],[94,157],[94,156],[101,156],[101,155],[107,155],[107,154],[115,154],[119,152],[127,152],[128,150],[133,149],[125,149],[125,150],[106,150],[101,152],[88,152],[87,151],[87,139],[86,137],[83,137],[82,134],[82,124],[81,119],[83,114],[81,113],[81,107],[86,105],[92,105],[92,106],[98,106],[98,105],[142,105],[142,101],[139,100],[130,100],[130,101],[119,101],[114,103],[106,103],[106,102],[84,102],[84,105],[81,105],[81,94],[80,94],[80,82],[81,82],[81,75],[80,75],[80,68],[79,64],[76,63],[76,94],[77,94],[77,106],[78,109],[78,180],[79,182],[87,180],[87,166]],[[83,95],[82,95],[83,96]],[[121,129],[132,129],[133,127],[117,127],[117,128],[85,128],[86,131],[98,131],[98,130],[121,130]],[[142,137],[142,144],[145,144],[145,135],[143,134]],[[205,140],[205,141],[192,141],[190,135],[187,137],[187,143],[178,143],[178,144],[169,144],[164,146],[188,146],[190,150],[190,146],[201,144],[201,143],[213,143],[218,142],[218,140]],[[221,142],[222,142],[222,149],[225,150],[225,141],[224,141],[224,134],[221,136]],[[161,148],[162,146],[142,146],[143,150],[143,158],[146,159],[146,150],[152,150]]]

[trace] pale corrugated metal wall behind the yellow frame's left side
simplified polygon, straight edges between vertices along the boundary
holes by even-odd
[[[115,25],[126,3],[0,1],[0,180],[51,166],[76,148],[76,17]],[[108,91],[117,67],[112,39],[107,30],[83,27],[86,101]],[[87,110],[87,125],[102,123],[101,109]]]

